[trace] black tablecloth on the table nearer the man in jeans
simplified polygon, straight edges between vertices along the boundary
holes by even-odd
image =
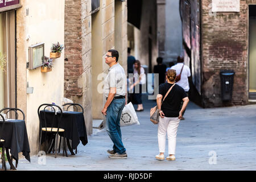
[[[52,118],[54,116],[54,111],[45,111],[46,115],[46,125],[47,127],[52,127]],[[40,117],[42,119],[41,127],[46,127],[44,123],[44,111],[40,111]],[[57,112],[57,117],[60,117],[60,112]],[[57,127],[57,117],[55,117],[55,122],[53,122],[53,127]],[[82,144],[85,146],[88,143],[87,134],[86,134],[86,127],[85,127],[85,120],[84,114],[76,111],[64,111],[62,115],[62,119],[60,121],[60,128],[64,129],[65,137],[67,139],[72,140],[72,149],[75,149],[80,140]],[[59,132],[61,136],[63,133]],[[43,141],[43,137],[42,137]]]

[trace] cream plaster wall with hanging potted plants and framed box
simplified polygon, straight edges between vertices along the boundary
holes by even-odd
[[[64,97],[65,50],[53,60],[52,71],[42,73],[40,67],[26,68],[28,47],[44,43],[44,55],[49,57],[52,44],[57,42],[64,43],[64,1],[23,0],[22,7],[16,11],[16,104],[26,116],[31,155],[38,154],[38,107],[52,102],[60,105]],[[27,94],[27,82],[34,88],[32,94]]]

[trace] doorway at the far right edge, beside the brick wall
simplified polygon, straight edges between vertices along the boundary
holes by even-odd
[[[249,99],[256,100],[256,5],[249,5]]]

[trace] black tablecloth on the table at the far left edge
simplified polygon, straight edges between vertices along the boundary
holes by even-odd
[[[2,122],[0,121],[2,127]],[[13,158],[18,161],[19,152],[30,162],[30,144],[28,143],[27,129],[24,120],[7,119],[3,131],[5,147],[10,149]]]

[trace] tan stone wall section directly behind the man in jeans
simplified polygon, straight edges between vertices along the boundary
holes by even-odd
[[[115,3],[114,0],[101,0],[100,11],[92,15],[92,117],[104,119],[101,110],[105,97],[100,90],[104,75],[108,69],[105,55],[115,48]]]

